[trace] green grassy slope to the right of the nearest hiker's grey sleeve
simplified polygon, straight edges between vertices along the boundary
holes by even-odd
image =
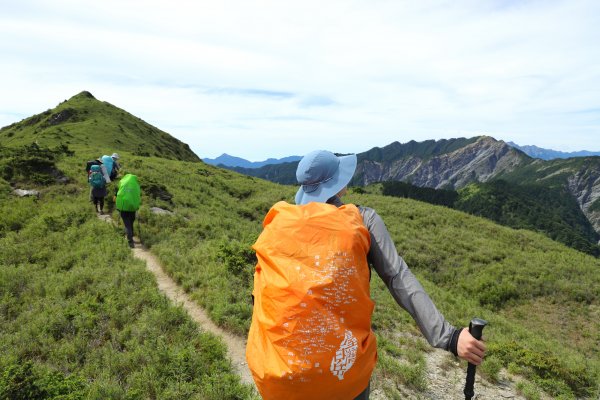
[[[355,201],[380,210],[399,252],[434,283],[428,289],[442,296],[437,304],[451,321],[470,315],[465,306],[474,302],[492,322],[490,358],[554,395],[567,392],[562,385],[594,393],[582,389],[598,384],[600,261],[443,207],[369,195]]]

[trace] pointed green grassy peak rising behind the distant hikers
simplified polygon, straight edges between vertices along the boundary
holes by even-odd
[[[197,161],[189,146],[107,102],[81,92],[57,107],[0,130],[0,145],[66,144],[93,159],[127,151],[138,155]]]

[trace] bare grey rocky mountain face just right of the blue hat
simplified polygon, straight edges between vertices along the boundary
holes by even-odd
[[[486,182],[530,162],[528,156],[506,143],[481,136],[473,143],[439,155],[362,160],[353,183],[405,181],[422,187],[458,189],[469,183]]]

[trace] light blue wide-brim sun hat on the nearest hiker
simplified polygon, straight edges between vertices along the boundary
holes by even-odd
[[[356,154],[338,157],[326,150],[308,153],[296,169],[296,179],[301,185],[296,204],[325,203],[348,185],[355,170]]]

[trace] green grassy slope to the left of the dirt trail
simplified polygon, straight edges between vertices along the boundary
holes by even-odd
[[[92,213],[82,182],[38,186],[40,200],[0,183],[0,398],[253,396],[224,345]]]

